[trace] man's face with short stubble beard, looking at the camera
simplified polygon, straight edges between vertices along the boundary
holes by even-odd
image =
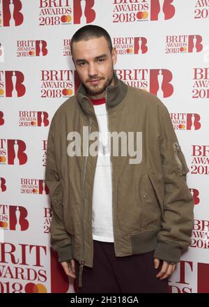
[[[116,50],[110,52],[107,40],[91,38],[73,43],[73,62],[79,78],[91,98],[102,98],[106,87],[114,84]]]

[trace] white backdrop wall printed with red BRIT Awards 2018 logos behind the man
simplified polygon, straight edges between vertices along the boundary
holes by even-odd
[[[192,244],[171,292],[209,292],[209,0],[0,0],[0,292],[76,292],[49,246],[54,112],[79,85],[70,38],[107,29],[119,78],[171,114],[194,195]]]

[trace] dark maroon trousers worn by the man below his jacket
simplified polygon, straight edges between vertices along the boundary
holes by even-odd
[[[93,268],[84,266],[78,287],[79,262],[75,260],[77,293],[168,293],[168,279],[156,278],[154,250],[141,255],[116,257],[114,243],[93,240]]]

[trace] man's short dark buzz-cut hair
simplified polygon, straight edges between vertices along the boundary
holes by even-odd
[[[95,24],[88,24],[87,26],[78,29],[73,34],[70,42],[71,53],[72,53],[72,44],[74,42],[79,42],[79,40],[89,40],[91,38],[100,38],[102,36],[104,36],[104,38],[107,40],[107,44],[111,52],[113,48],[109,33],[102,27],[96,26]]]

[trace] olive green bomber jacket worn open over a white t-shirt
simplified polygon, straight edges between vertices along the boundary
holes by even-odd
[[[167,107],[157,96],[128,87],[118,80],[106,89],[109,131],[142,133],[141,163],[113,155],[114,250],[116,257],[155,250],[154,257],[178,262],[190,244],[194,202],[186,182],[189,172]],[[68,133],[83,137],[98,131],[93,105],[80,85],[75,96],[56,110],[47,140],[45,181],[53,217],[52,248],[59,262],[79,261],[79,287],[83,266],[93,267],[92,198],[97,156],[69,156]],[[88,140],[87,147],[93,143]],[[81,152],[84,144],[81,142]]]

